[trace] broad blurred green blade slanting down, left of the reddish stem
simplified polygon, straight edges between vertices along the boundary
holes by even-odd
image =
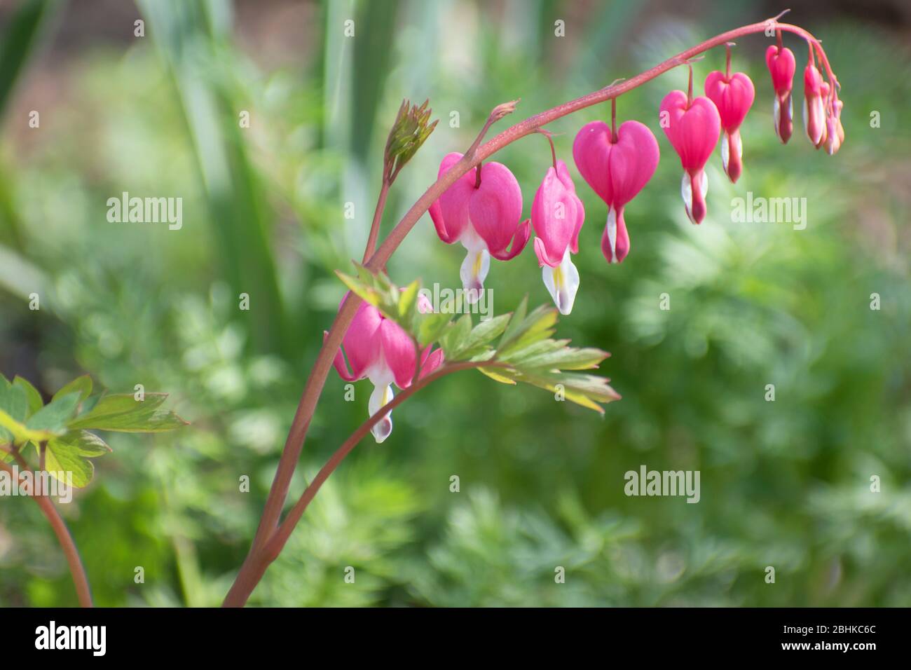
[[[234,296],[251,297],[244,319],[260,351],[289,353],[275,261],[271,213],[248,157],[230,82],[233,46],[230,6],[190,0],[138,3],[169,68],[196,150],[210,207],[213,237],[220,243],[222,271]]]

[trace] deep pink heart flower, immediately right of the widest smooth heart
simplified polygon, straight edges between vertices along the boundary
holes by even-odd
[[[681,195],[686,214],[691,222],[701,223],[706,212],[705,195],[709,191],[704,168],[722,132],[718,108],[709,98],[691,98],[681,90],[674,90],[661,101],[660,118],[664,134],[681,157],[685,170]]]

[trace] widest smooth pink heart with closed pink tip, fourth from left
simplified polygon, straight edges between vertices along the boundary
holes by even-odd
[[[630,253],[623,208],[655,173],[658,140],[639,121],[623,122],[616,135],[604,121],[592,121],[579,129],[572,155],[582,179],[608,206],[601,252],[608,263],[620,263]]]

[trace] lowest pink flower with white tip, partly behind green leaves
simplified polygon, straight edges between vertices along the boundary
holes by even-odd
[[[347,299],[348,294],[345,294],[342,304]],[[417,306],[423,313],[433,311],[425,295],[418,296]],[[348,356],[350,370],[345,364],[345,356]],[[421,376],[433,372],[442,363],[443,350],[436,349],[431,353],[428,346],[421,354]],[[411,386],[415,376],[415,343],[402,326],[380,314],[374,305],[362,303],[342,339],[342,347],[335,354],[333,365],[346,382],[370,379],[374,392],[367,407],[372,417],[393,399],[393,383],[399,388]],[[388,438],[392,431],[391,412],[370,429],[377,442]]]

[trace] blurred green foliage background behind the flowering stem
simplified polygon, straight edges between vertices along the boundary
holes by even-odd
[[[396,410],[391,438],[364,441],[333,475],[251,602],[911,604],[909,14],[861,5],[791,3],[789,20],[823,40],[842,84],[846,140],[834,158],[803,135],[804,46],[785,36],[799,66],[786,146],[772,128],[769,40],[734,49],[734,67],[756,85],[745,171],[732,186],[720,156],[711,160],[699,227],[686,219],[657,112],[667,91],[685,88],[685,69],[620,98],[619,120],[649,125],[662,160],[627,208],[631,252],[619,266],[599,249],[606,207],[571,161],[576,131],[609,118],[609,106],[552,124],[587,211],[581,287],[558,334],[612,352],[602,372],[622,401],[602,418],[476,373],[428,388]],[[363,253],[402,98],[430,98],[441,122],[396,182],[384,232],[496,104],[522,98],[503,129],[781,9],[0,3],[0,371],[48,397],[84,371],[119,392],[141,383],[172,394],[169,406],[192,422],[110,436],[95,481],[61,506],[97,604],[220,603],[343,294],[333,270]],[[698,91],[723,59],[715,49],[697,64]],[[522,139],[497,160],[522,185],[527,216],[547,141]],[[107,222],[107,198],[122,191],[182,197],[182,229]],[[747,191],[806,198],[806,229],[732,222],[732,198]],[[463,256],[425,216],[389,271],[398,283],[454,287]],[[494,262],[486,285],[497,314],[524,294],[549,301],[530,248]],[[362,382],[345,402],[330,376],[292,500],[367,416],[368,396]],[[623,475],[642,464],[701,470],[701,501],[626,497]],[[870,491],[873,475],[881,492]],[[0,604],[75,603],[36,506],[0,500]]]

